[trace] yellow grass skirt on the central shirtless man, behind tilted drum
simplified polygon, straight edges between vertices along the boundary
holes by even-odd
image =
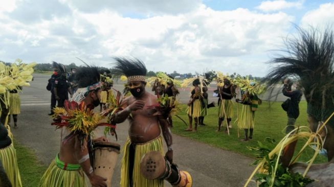
[[[128,138],[123,149],[123,159],[122,159],[122,170],[121,170],[121,186],[129,186],[129,147],[131,146],[130,139]],[[140,173],[140,161],[142,157],[149,151],[160,151],[163,155],[164,151],[162,148],[162,138],[161,136],[152,139],[151,141],[144,144],[137,144],[135,150],[135,162],[133,165],[133,187],[160,187],[164,186],[164,180],[149,180],[144,178]]]

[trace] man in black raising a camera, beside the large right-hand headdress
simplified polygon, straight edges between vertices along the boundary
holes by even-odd
[[[295,129],[295,123],[299,116],[299,102],[302,98],[302,91],[300,90],[299,85],[297,84],[296,90],[292,91],[293,82],[290,79],[284,80],[283,86],[283,95],[290,98],[290,101],[287,103],[287,127],[286,133],[291,132]]]

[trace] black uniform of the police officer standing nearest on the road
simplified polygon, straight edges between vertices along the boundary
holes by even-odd
[[[64,106],[64,101],[69,99],[68,88],[70,87],[69,81],[65,77],[56,78],[54,88],[57,88],[57,95],[60,98],[58,100],[58,107]]]

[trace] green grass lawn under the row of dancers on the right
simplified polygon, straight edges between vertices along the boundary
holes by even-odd
[[[262,105],[259,106],[258,110],[255,113],[253,140],[248,142],[240,141],[240,139],[243,138],[244,135],[243,129],[239,130],[240,137],[237,137],[237,123],[234,122],[237,119],[237,107],[241,108],[241,104],[239,104],[238,106],[237,103],[234,103],[234,118],[232,119],[233,125],[232,129],[230,129],[230,135],[224,132],[225,127],[221,128],[222,131],[216,132],[218,125],[217,107],[208,109],[208,115],[204,119],[204,124],[206,124],[206,126],[197,127],[197,132],[184,131],[187,126],[176,117],[173,118],[174,127],[171,129],[174,134],[189,137],[191,139],[209,144],[214,147],[226,149],[250,157],[255,157],[256,152],[249,150],[247,147],[257,147],[258,141],[262,142],[265,145],[268,145],[269,147],[274,147],[275,145],[270,145],[269,143],[266,143],[264,141],[265,137],[274,138],[277,143],[284,137],[284,128],[286,127],[287,116],[286,112],[281,108],[280,105],[280,102],[276,102],[272,103],[271,107],[269,107],[269,104],[267,102],[263,102]],[[188,115],[185,112],[186,107],[186,105],[182,105],[183,110],[179,113],[179,116],[181,116],[181,118],[188,123]],[[305,126],[307,125],[306,102],[302,101],[299,107],[300,116],[297,119],[295,125]],[[224,125],[226,126],[225,121]],[[304,143],[302,141],[299,141],[295,153],[298,151],[299,148],[301,148],[302,145],[304,145]],[[314,151],[311,148],[307,148],[307,150],[301,156],[300,161],[309,160],[313,153]],[[327,158],[318,155],[316,162],[325,161],[327,161]]]

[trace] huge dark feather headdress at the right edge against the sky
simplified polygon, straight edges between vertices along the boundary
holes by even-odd
[[[297,77],[307,101],[307,113],[324,121],[334,111],[333,31],[297,30],[298,36],[285,40],[285,54],[271,61],[276,67],[264,81],[273,86],[285,77]],[[329,124],[334,126],[333,121]]]

